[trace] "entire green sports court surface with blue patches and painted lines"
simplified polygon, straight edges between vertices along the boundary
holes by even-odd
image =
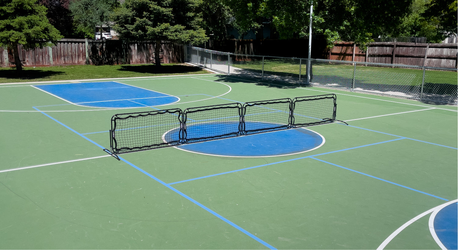
[[[335,122],[119,154],[114,114],[337,95]],[[457,107],[205,74],[0,85],[1,249],[457,249]]]

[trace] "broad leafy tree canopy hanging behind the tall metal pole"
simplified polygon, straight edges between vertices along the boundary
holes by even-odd
[[[409,14],[412,0],[226,0],[240,31],[262,31],[271,21],[280,39],[308,37],[313,2],[313,32],[324,34],[329,46],[338,40],[366,48],[374,37],[392,32]],[[258,37],[257,37],[258,38]],[[260,39],[260,38],[258,38]],[[262,38],[261,38],[262,39]]]

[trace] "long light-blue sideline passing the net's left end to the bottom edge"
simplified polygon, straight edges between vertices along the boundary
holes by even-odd
[[[86,136],[82,135],[81,133],[78,133],[76,132],[76,130],[68,127],[67,125],[65,125],[64,123],[62,122],[59,122],[57,119],[55,119],[54,117],[51,117],[49,116],[48,114],[46,114],[45,112],[43,111],[40,111],[38,108],[36,107],[33,107],[35,110],[41,112],[42,114],[44,114],[45,116],[51,118],[53,121],[59,123],[60,125],[64,126],[65,128],[68,128],[71,132],[73,133],[76,133],[77,135],[81,136],[82,138],[85,138],[86,140],[88,140],[89,142],[95,144],[96,146],[98,146],[99,148],[101,149],[104,149],[104,147],[102,147],[101,145],[97,144],[96,142],[94,142],[93,140],[87,138]],[[153,180],[155,181],[158,181],[159,183],[161,183],[162,185],[168,187],[170,190],[176,192],[177,194],[181,195],[182,197],[185,197],[186,199],[188,199],[189,201],[193,202],[194,204],[196,204],[197,206],[203,208],[204,210],[206,210],[207,212],[213,214],[214,216],[218,217],[219,219],[223,220],[224,222],[228,223],[229,225],[233,226],[235,229],[238,229],[240,232],[250,236],[252,239],[256,240],[257,242],[261,243],[262,245],[266,246],[267,248],[269,249],[273,249],[273,250],[276,250],[276,248],[274,248],[272,245],[269,245],[267,244],[267,242],[263,241],[262,239],[259,239],[258,237],[256,237],[254,234],[251,234],[250,232],[246,231],[245,229],[241,228],[240,226],[238,226],[237,224],[229,221],[228,219],[224,218],[223,216],[219,215],[218,213],[214,212],[213,210],[209,209],[208,207],[205,207],[204,205],[202,205],[201,203],[197,202],[196,200],[192,199],[191,197],[185,195],[184,193],[178,191],[177,189],[175,189],[174,187],[166,184],[164,181],[161,181],[159,180],[158,178],[156,178],[155,176],[149,174],[147,171],[145,170],[142,170],[141,168],[137,167],[136,165],[133,165],[132,163],[130,163],[129,161],[125,160],[124,158],[121,158],[119,157],[120,160],[124,161],[125,163],[131,165],[132,167],[136,168],[137,170],[141,171],[143,174],[151,177]]]

